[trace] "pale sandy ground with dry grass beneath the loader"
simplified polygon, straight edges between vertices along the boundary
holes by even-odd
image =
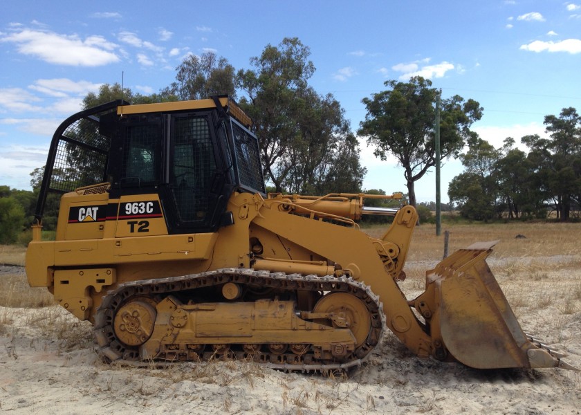
[[[510,272],[497,278],[509,301],[524,289],[515,284],[511,291]],[[540,275],[538,282],[544,279],[551,276]],[[579,304],[565,320],[555,307],[515,313],[526,331],[556,342],[569,353],[566,361],[581,367]],[[0,307],[0,414],[49,413],[580,414],[581,375],[478,371],[422,360],[391,333],[349,378],[285,374],[245,362],[116,367],[93,350],[91,325],[63,308]]]

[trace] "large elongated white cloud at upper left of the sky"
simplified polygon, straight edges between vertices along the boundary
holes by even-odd
[[[118,46],[101,36],[90,36],[82,40],[77,35],[23,29],[1,37],[0,42],[16,44],[19,53],[37,57],[50,64],[102,66],[120,60],[113,53]]]

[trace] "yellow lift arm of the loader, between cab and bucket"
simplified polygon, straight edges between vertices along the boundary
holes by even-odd
[[[432,340],[407,304],[394,276],[381,260],[376,239],[369,238],[356,228],[345,228],[281,212],[276,203],[269,205],[266,202],[253,221],[254,225],[334,261],[342,270],[347,270],[353,279],[371,286],[383,302],[387,327],[416,355],[428,357],[433,354]],[[394,274],[398,274],[403,267],[416,220],[417,214],[413,207],[406,206],[399,210],[382,240],[385,241],[387,237],[398,238],[394,246],[398,247],[401,257],[394,258],[398,262],[391,268]]]

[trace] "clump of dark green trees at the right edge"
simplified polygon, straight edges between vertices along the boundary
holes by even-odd
[[[488,220],[508,212],[509,219],[546,219],[552,205],[567,221],[581,202],[581,118],[573,108],[546,116],[550,138],[524,136],[528,154],[506,138],[495,149],[479,138],[461,156],[465,171],[450,182],[450,201],[463,216]]]

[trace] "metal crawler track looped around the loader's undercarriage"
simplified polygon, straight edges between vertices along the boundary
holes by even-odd
[[[138,351],[124,347],[113,332],[113,318],[120,306],[131,297],[152,297],[156,295],[169,295],[180,291],[203,288],[217,284],[235,282],[263,288],[282,288],[288,290],[324,291],[333,293],[350,293],[358,297],[367,306],[371,317],[371,330],[367,340],[351,355],[341,362],[311,362],[309,364],[273,363],[270,353],[262,353],[267,356],[259,363],[273,369],[284,371],[334,371],[347,370],[360,366],[369,353],[377,346],[382,338],[385,327],[385,315],[379,297],[375,295],[369,286],[347,277],[334,277],[327,275],[300,275],[285,273],[269,273],[268,271],[255,271],[248,268],[224,268],[208,273],[183,275],[181,277],[169,277],[163,279],[147,279],[120,284],[115,290],[109,291],[102,299],[102,303],[95,315],[95,338],[99,352],[111,362],[124,365],[150,366],[152,362],[139,360]],[[313,356],[314,360],[314,356]],[[156,366],[163,366],[167,362],[154,362]]]

